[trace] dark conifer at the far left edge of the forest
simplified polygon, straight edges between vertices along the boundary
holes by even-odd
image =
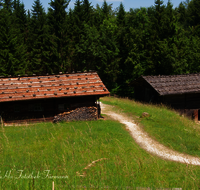
[[[4,1],[0,18],[0,74],[18,75],[25,73],[25,50],[20,39],[20,28],[15,22],[13,3]]]

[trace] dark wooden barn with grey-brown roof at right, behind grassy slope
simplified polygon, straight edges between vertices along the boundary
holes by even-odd
[[[136,100],[164,103],[200,120],[200,74],[141,76],[133,84]]]

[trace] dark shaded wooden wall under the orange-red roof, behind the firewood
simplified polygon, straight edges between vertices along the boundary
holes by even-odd
[[[52,98],[0,103],[0,115],[4,122],[15,120],[41,120],[83,106],[96,106],[96,96]]]

